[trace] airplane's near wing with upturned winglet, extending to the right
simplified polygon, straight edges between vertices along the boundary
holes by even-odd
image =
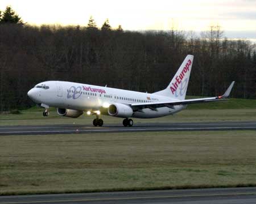
[[[230,84],[225,94],[222,96],[206,97],[201,99],[187,99],[187,100],[179,100],[179,101],[164,101],[164,102],[158,102],[158,103],[155,103],[155,102],[133,103],[131,104],[131,107],[134,109],[150,108],[153,111],[156,111],[156,108],[160,108],[160,107],[168,107],[168,108],[174,109],[174,105],[187,105],[187,104],[195,104],[195,103],[208,103],[212,101],[223,101],[223,100],[227,100],[226,98],[229,96],[233,86],[234,86],[234,81]]]

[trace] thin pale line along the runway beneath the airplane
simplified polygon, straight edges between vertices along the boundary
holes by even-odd
[[[15,133],[81,133],[81,132],[110,132],[110,131],[164,131],[164,130],[225,130],[225,129],[256,129],[255,126],[249,127],[205,127],[205,128],[134,128],[134,129],[100,129],[100,130],[42,130],[42,131],[0,131],[0,134],[15,134]]]

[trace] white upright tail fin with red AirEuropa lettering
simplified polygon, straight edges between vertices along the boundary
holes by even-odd
[[[188,80],[192,68],[193,58],[194,56],[188,55],[184,59],[180,68],[177,70],[177,73],[171,80],[169,86],[165,90],[155,92],[154,94],[184,100],[188,88]]]

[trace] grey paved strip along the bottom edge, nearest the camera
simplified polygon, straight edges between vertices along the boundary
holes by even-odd
[[[212,188],[185,190],[150,190],[138,192],[44,194],[32,196],[1,196],[0,204],[23,203],[180,203],[180,204],[253,204],[256,188]]]

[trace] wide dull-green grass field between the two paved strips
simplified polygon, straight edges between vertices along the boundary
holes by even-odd
[[[256,185],[256,131],[1,137],[0,194]]]

